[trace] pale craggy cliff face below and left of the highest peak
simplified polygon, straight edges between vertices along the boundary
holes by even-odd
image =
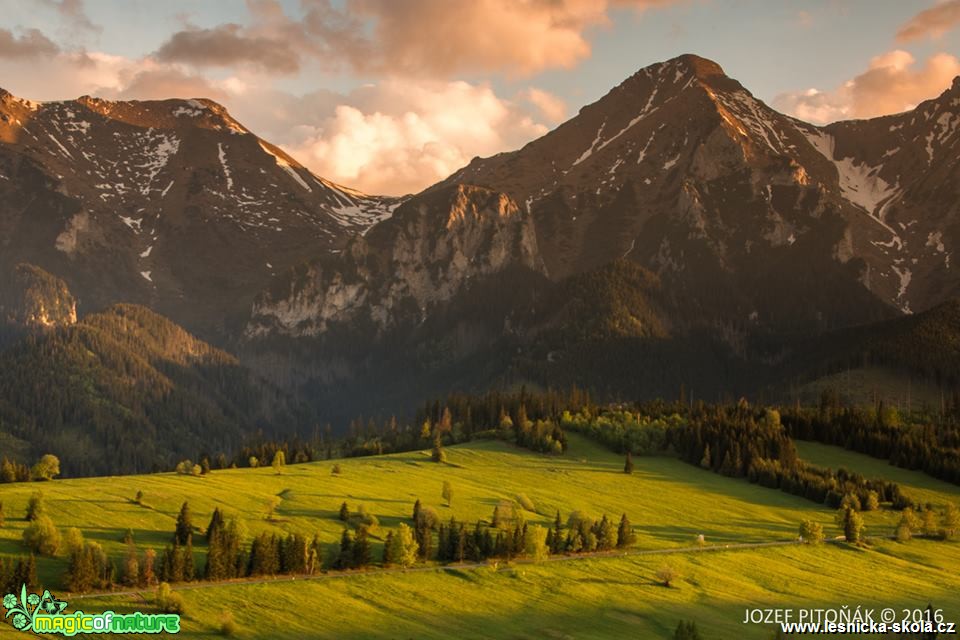
[[[317,336],[350,323],[382,332],[420,324],[471,282],[508,268],[544,270],[529,214],[488,189],[438,189],[400,206],[339,258],[278,279],[257,299],[247,335]]]

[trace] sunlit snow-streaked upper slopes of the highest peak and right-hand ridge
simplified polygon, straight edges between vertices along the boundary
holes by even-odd
[[[682,284],[690,278],[676,273],[687,266],[681,253],[706,251],[708,271],[756,273],[763,265],[750,259],[755,248],[789,254],[812,241],[824,268],[852,261],[838,277],[853,275],[906,312],[960,293],[949,273],[950,247],[960,242],[951,204],[958,105],[955,82],[912,112],[815,127],[770,109],[719,65],[681,56],[447,182],[525,202],[553,278],[629,253]],[[800,266],[810,251],[788,259]],[[921,284],[920,273],[931,277]],[[764,317],[772,309],[739,311],[778,324]]]

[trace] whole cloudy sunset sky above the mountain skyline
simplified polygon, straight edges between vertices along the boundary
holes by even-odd
[[[960,75],[960,0],[0,0],[8,91],[210,97],[370,193],[522,146],[682,53],[808,121],[894,113]]]

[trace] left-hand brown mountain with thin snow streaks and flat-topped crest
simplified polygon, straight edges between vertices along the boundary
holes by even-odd
[[[400,199],[313,175],[210,100],[0,91],[0,202],[0,269],[31,262],[87,311],[143,303],[223,339],[274,274]]]

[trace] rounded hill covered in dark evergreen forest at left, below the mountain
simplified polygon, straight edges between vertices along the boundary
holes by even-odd
[[[0,353],[0,371],[0,436],[19,444],[4,453],[53,453],[71,476],[167,470],[311,420],[229,354],[134,305],[32,332]]]

